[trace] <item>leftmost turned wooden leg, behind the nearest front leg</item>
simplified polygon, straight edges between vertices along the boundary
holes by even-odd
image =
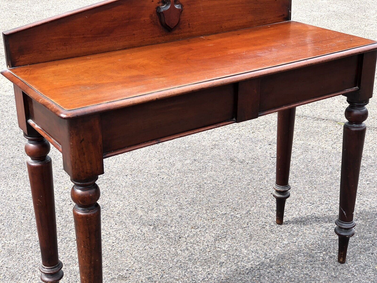
[[[50,144],[41,135],[24,136],[28,139],[25,152],[30,157],[27,165],[42,257],[41,280],[56,283],[63,277],[63,264],[58,257],[52,162],[47,155]]]

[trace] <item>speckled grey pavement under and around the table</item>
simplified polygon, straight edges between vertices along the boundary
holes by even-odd
[[[94,0],[0,0],[0,31]],[[293,20],[377,39],[375,0],[293,0]],[[2,42],[1,42],[2,45]],[[3,52],[0,66],[5,68]],[[40,255],[12,85],[0,78],[0,282],[39,282]],[[377,90],[377,85],[375,85]],[[344,97],[297,109],[291,197],[274,224],[276,114],[105,160],[105,282],[377,282],[377,102],[371,100],[356,235],[336,261]],[[71,183],[52,148],[62,283],[79,281]]]

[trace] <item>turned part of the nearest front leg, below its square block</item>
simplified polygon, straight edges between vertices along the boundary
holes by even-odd
[[[81,283],[102,283],[101,208],[97,201],[97,177],[85,182],[72,180],[71,197],[76,203],[75,220]]]

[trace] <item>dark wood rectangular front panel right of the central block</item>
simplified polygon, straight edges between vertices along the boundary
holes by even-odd
[[[351,56],[261,79],[259,111],[357,87],[359,56]]]

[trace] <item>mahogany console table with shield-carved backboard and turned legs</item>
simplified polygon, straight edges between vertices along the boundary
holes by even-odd
[[[283,223],[296,106],[344,95],[338,261],[353,212],[377,43],[290,20],[290,0],[110,0],[3,33],[37,220],[41,280],[63,277],[50,144],[63,154],[81,283],[102,279],[103,159],[278,112]],[[221,4],[220,4],[221,3]]]

